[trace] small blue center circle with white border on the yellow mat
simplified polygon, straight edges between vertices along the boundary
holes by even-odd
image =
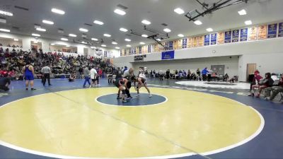
[[[166,102],[167,98],[162,95],[152,94],[151,98],[149,98],[148,93],[131,93],[132,98],[127,99],[127,102],[122,102],[122,99],[117,100],[117,94],[108,94],[102,95],[96,98],[96,101],[106,104],[106,105],[114,105],[114,106],[127,106],[127,107],[134,107],[134,106],[144,106],[144,105],[157,105],[161,104],[162,102]]]

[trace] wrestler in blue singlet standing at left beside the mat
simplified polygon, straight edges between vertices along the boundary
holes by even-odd
[[[36,90],[35,88],[33,88],[35,70],[33,69],[33,66],[30,65],[30,61],[27,61],[25,66],[23,66],[22,73],[25,78],[25,90],[28,90],[28,85],[30,85],[31,90]]]

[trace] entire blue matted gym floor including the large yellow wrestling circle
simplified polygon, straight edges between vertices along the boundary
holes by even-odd
[[[148,80],[123,104],[100,80],[0,92],[0,158],[282,158],[283,107],[248,90]]]

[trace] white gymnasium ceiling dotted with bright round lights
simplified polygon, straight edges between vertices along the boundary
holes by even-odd
[[[204,1],[204,0],[200,0]],[[212,5],[219,0],[206,0],[205,2]],[[125,16],[120,16],[113,11],[118,8],[117,5],[127,6]],[[20,6],[28,8],[28,11],[15,8]],[[229,28],[239,28],[245,26],[245,20],[252,20],[253,24],[267,23],[282,20],[283,1],[282,0],[250,0],[248,4],[236,4],[226,8],[221,8],[204,17],[198,18],[202,25],[195,25],[185,17],[185,13],[197,9],[204,11],[200,4],[195,0],[1,0],[0,10],[13,13],[13,16],[3,16],[6,23],[0,23],[0,28],[10,29],[11,33],[21,35],[31,35],[38,33],[41,37],[52,40],[60,40],[65,37],[70,41],[83,40],[79,28],[88,29],[87,37],[103,39],[104,44],[109,48],[126,47],[126,45],[137,46],[139,42],[146,44],[153,43],[144,37],[131,35],[121,32],[120,28],[134,30],[134,32],[153,35],[144,30],[144,24],[141,20],[151,21],[148,28],[164,33],[164,28],[170,28],[168,33],[170,39],[180,38],[178,34],[185,36],[198,35],[207,33],[207,28],[214,31],[226,30]],[[52,13],[52,8],[59,8],[65,11],[64,15]],[[183,8],[184,14],[179,15],[174,12],[175,8]],[[245,9],[247,15],[239,16],[238,11]],[[43,19],[52,20],[54,25],[42,23]],[[93,20],[103,21],[104,25],[97,25]],[[85,25],[85,23],[92,26]],[[166,23],[168,26],[161,25]],[[35,30],[35,24],[41,25],[46,32]],[[16,27],[16,28],[13,28]],[[64,33],[58,33],[58,29],[64,30]],[[69,37],[69,33],[74,33],[77,37]],[[104,37],[108,33],[111,37]],[[125,38],[131,39],[126,42]],[[112,45],[115,40],[118,45]],[[93,42],[90,40],[90,42]],[[95,43],[94,43],[95,44]],[[100,46],[101,44],[95,44]]]

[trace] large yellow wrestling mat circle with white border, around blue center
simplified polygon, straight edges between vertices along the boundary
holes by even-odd
[[[264,125],[256,110],[235,100],[190,90],[150,89],[168,100],[113,107],[96,98],[117,93],[117,88],[92,88],[10,102],[0,107],[0,143],[55,158],[173,158],[240,146]]]

